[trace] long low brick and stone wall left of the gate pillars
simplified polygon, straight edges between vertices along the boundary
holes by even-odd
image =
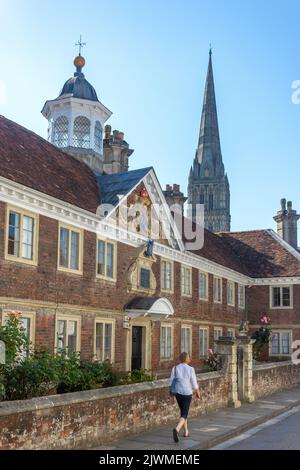
[[[223,371],[198,376],[201,398],[190,416],[227,406]],[[0,449],[79,449],[96,447],[178,417],[169,381],[0,403]]]

